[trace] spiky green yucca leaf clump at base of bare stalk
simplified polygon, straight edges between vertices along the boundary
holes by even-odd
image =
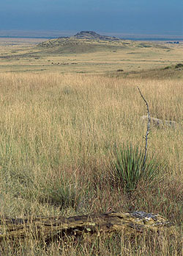
[[[134,190],[139,182],[152,182],[165,168],[156,157],[148,158],[144,163],[144,154],[138,146],[127,144],[114,146],[111,160],[111,177],[113,184],[120,185],[127,191]]]

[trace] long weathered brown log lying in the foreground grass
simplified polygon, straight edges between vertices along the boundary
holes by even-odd
[[[0,218],[0,240],[33,238],[45,242],[65,235],[94,234],[98,232],[124,232],[124,234],[154,232],[173,227],[173,223],[163,216],[143,211],[132,213],[103,213],[63,218],[29,217]]]

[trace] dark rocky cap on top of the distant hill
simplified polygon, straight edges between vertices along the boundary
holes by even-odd
[[[94,31],[81,31],[81,32],[78,32],[76,35],[74,35],[73,38],[89,39],[89,40],[109,40],[109,41],[111,41],[111,40],[112,41],[120,40],[119,38],[97,34]]]

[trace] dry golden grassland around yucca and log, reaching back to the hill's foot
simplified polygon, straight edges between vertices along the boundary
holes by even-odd
[[[10,242],[1,247],[2,255],[182,254],[182,68],[179,76],[175,75],[175,66],[171,67],[172,76],[163,74],[168,72],[163,68],[181,63],[183,57],[179,46],[170,46],[170,51],[154,46],[157,55],[153,57],[149,48],[135,47],[135,43],[140,44],[131,43],[127,47],[132,49],[119,52],[105,49],[76,56],[46,55],[27,43],[2,46],[1,215],[74,216],[104,213],[108,207],[125,212],[143,210],[173,221],[174,234],[142,235],[130,241],[120,234],[91,241],[67,238],[48,247],[39,241],[21,241],[19,246]],[[31,51],[40,58],[35,60]],[[129,54],[131,51],[137,54]],[[122,57],[124,61],[119,61]],[[48,60],[75,61],[78,68],[74,64],[49,64]],[[42,65],[45,71],[40,71]],[[138,71],[139,65],[146,71]],[[150,67],[155,71],[148,71]],[[119,68],[136,73],[123,77],[122,72],[116,71]],[[76,74],[81,70],[86,74]],[[140,76],[144,72],[146,76]],[[157,73],[159,77],[154,75]],[[152,128],[149,156],[158,154],[167,168],[160,174],[160,182],[141,184],[129,195],[111,185],[110,160],[114,143],[144,148],[146,125],[140,117],[146,114],[146,106],[137,86],[149,102],[152,116],[176,121],[178,126]]]

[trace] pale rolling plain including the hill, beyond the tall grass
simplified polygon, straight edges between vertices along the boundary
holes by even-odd
[[[119,40],[95,32],[38,43],[1,38],[0,45],[0,72],[108,74],[123,70],[124,76],[132,77],[134,71],[160,73],[161,68],[183,62],[182,43]],[[182,71],[176,73],[182,77]]]

